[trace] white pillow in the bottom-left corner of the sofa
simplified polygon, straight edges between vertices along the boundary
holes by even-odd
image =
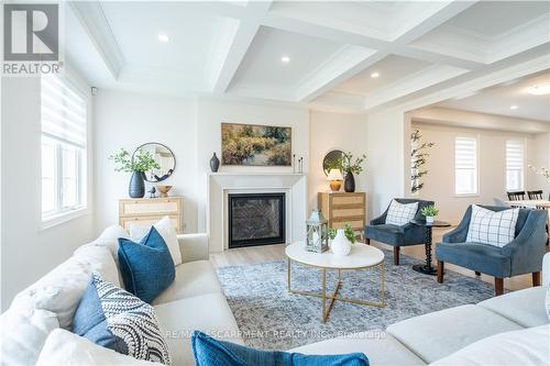
[[[0,363],[34,365],[51,332],[59,328],[55,313],[34,309],[24,314],[9,309],[0,317]]]

